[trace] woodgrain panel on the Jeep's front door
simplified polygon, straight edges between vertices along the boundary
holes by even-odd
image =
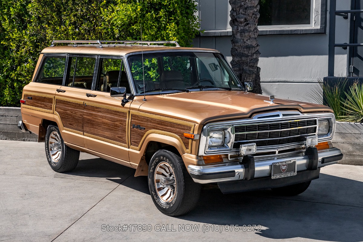
[[[127,144],[126,122],[127,113],[101,107],[87,106],[84,108],[83,132],[104,139]]]

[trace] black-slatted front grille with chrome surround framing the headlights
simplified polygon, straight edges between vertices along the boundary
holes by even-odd
[[[317,135],[318,122],[329,121],[329,133],[318,135],[318,141],[329,141],[335,131],[335,116],[332,112],[303,114],[297,110],[261,112],[250,118],[213,122],[203,126],[200,135],[198,155],[231,154],[240,159],[240,145],[256,143],[256,156],[276,156],[280,152],[302,152],[306,136]],[[231,130],[231,139],[224,147],[208,148],[210,130]],[[292,148],[298,150],[292,151]],[[257,157],[256,157],[257,158]],[[255,159],[256,159],[255,158]]]

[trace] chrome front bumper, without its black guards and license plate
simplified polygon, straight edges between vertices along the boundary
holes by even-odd
[[[318,163],[315,169],[338,163],[338,160],[342,158],[343,154],[338,148],[318,151]],[[256,158],[254,162],[254,176],[251,179],[271,176],[272,163],[287,160],[296,160],[297,172],[307,170],[309,163],[312,162],[308,155]],[[223,164],[188,165],[188,171],[195,182],[202,184],[244,180],[246,177],[245,173],[248,172],[249,168],[242,164],[241,161],[242,159]]]

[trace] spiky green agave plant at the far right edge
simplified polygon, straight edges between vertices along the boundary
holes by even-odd
[[[349,88],[343,110],[346,115],[340,116],[342,121],[363,122],[363,84],[355,82]]]

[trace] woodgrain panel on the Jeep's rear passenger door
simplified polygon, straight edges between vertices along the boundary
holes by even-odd
[[[65,128],[83,132],[83,103],[57,99],[56,112],[59,114]]]

